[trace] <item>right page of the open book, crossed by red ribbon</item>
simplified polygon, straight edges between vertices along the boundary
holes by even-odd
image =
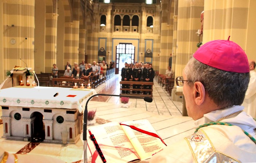
[[[158,135],[148,120],[127,121],[122,122],[121,124],[133,125],[137,128],[156,133]],[[151,158],[153,154],[166,147],[166,145],[164,145],[163,142],[157,137],[141,133],[125,125],[121,125],[121,127],[130,139],[141,160]]]

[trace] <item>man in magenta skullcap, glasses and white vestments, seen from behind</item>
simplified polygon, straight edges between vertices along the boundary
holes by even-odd
[[[197,129],[149,162],[256,162],[256,121],[241,106],[249,78],[247,55],[238,44],[213,40],[199,47],[176,78]]]

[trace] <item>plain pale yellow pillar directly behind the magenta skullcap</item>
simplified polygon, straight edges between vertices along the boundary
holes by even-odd
[[[228,39],[239,44],[248,58],[256,60],[255,21],[256,1],[207,0],[205,1],[203,43]]]

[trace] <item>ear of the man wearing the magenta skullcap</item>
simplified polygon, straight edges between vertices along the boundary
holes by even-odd
[[[201,82],[194,83],[194,100],[197,105],[201,105],[205,100],[205,87]]]

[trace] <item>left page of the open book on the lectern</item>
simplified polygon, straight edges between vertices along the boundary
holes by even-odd
[[[108,163],[139,161],[139,155],[117,122],[90,127]],[[136,161],[135,161],[136,162]]]

